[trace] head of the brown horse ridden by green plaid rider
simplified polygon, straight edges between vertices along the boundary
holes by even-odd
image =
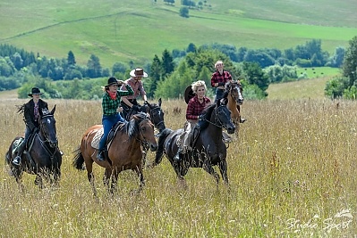
[[[154,134],[154,124],[151,122],[149,115],[145,112],[139,112],[132,116],[139,127],[140,141],[149,144],[151,152],[157,151],[157,140]]]

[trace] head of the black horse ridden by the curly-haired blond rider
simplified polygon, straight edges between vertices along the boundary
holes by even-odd
[[[216,116],[216,123],[219,127],[224,127],[228,134],[234,134],[234,124],[231,119],[231,111],[227,108],[228,99],[223,98],[217,101],[215,114],[212,113],[212,116]]]

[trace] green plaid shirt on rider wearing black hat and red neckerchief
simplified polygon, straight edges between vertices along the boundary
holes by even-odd
[[[132,95],[134,91],[132,91],[132,87],[130,85],[126,86],[127,91],[118,90],[116,92],[116,99],[113,100],[110,98],[109,94],[105,92],[103,94],[102,99],[102,108],[104,116],[111,116],[116,114],[116,110],[119,107],[121,96]]]

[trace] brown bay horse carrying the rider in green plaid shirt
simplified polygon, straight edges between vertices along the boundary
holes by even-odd
[[[144,112],[139,112],[133,115],[131,120],[125,123],[117,123],[112,129],[114,134],[107,146],[106,160],[98,161],[98,140],[95,147],[93,147],[93,141],[95,140],[98,131],[99,135],[103,135],[102,128],[102,125],[95,125],[89,127],[84,133],[81,139],[81,145],[75,151],[72,161],[73,167],[79,170],[87,169],[89,183],[92,186],[93,194],[96,197],[97,191],[94,186],[93,162],[106,168],[104,184],[108,186],[109,192],[113,193],[115,191],[119,173],[127,169],[134,170],[139,176],[140,192],[145,185],[144,176],[142,174],[142,149],[140,145],[142,143],[147,143],[149,144],[151,151],[157,150],[154,125],[150,121],[149,115]],[[109,133],[108,136],[110,136],[110,134],[111,133]],[[98,139],[100,139],[100,136]],[[83,167],[83,164],[85,164],[85,168]],[[110,182],[111,187],[109,188]]]

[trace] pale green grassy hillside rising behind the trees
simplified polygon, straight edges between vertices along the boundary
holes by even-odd
[[[199,1],[195,1],[199,4]],[[151,62],[165,50],[219,43],[237,48],[286,49],[321,39],[324,50],[357,34],[355,0],[212,0],[179,16],[181,1],[7,1],[0,3],[0,44],[80,64],[91,53],[105,67]]]

